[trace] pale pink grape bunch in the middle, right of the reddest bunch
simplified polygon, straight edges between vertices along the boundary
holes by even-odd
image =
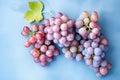
[[[70,46],[74,40],[73,27],[74,21],[62,13],[56,17],[44,20],[46,38],[58,44],[59,47]]]

